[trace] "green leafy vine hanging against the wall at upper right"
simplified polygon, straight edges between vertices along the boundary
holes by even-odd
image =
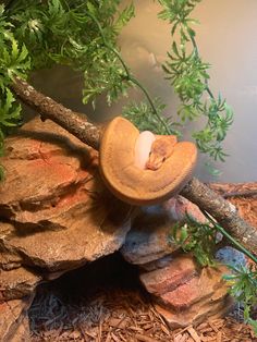
[[[173,41],[168,60],[163,64],[168,78],[178,94],[181,106],[178,114],[182,123],[206,118],[203,130],[193,133],[200,151],[208,154],[213,160],[224,161],[228,156],[222,148],[222,142],[233,122],[233,111],[221,95],[216,98],[208,81],[210,65],[205,63],[198,52],[195,41],[197,23],[191,19],[191,13],[200,0],[159,0],[163,10],[159,17],[168,20],[172,25],[172,36],[179,36]]]

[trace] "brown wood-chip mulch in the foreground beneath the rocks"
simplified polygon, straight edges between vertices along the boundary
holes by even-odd
[[[32,342],[241,342],[257,341],[252,329],[232,317],[170,330],[139,290],[102,290],[78,304],[53,292],[37,296],[30,309]]]

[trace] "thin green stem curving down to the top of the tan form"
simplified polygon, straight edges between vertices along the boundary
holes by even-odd
[[[166,129],[166,132],[168,135],[172,134],[172,132],[170,131],[169,126],[167,125],[167,123],[164,122],[164,120],[159,115],[156,107],[155,107],[155,103],[154,101],[151,100],[151,97],[148,93],[148,90],[139,83],[139,81],[137,81],[134,76],[132,76],[128,68],[126,66],[124,60],[122,59],[121,54],[119,53],[119,51],[117,49],[114,49],[112,46],[110,46],[107,40],[106,40],[106,37],[105,37],[105,33],[101,28],[101,25],[100,23],[98,22],[98,20],[90,13],[88,13],[88,16],[90,16],[90,19],[95,22],[95,24],[97,25],[98,29],[99,29],[99,33],[102,37],[102,40],[103,40],[103,44],[106,45],[106,47],[112,51],[117,58],[119,59],[119,61],[121,62],[122,66],[124,68],[125,70],[125,73],[126,73],[126,80],[127,81],[131,81],[132,83],[134,83],[145,95],[145,97],[147,98],[150,107],[151,107],[151,110],[152,112],[155,113],[155,115],[158,118],[158,120],[161,122],[161,124],[163,125],[163,127]]]

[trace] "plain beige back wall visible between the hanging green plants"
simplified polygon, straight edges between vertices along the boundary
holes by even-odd
[[[123,4],[131,1],[125,0]],[[157,2],[136,1],[136,17],[124,28],[120,45],[122,54],[135,75],[152,96],[160,96],[168,103],[167,113],[175,113],[179,101],[172,88],[163,81],[161,63],[171,46],[170,26],[157,19]],[[196,27],[197,42],[204,60],[212,64],[210,87],[221,91],[235,112],[234,124],[224,142],[230,157],[225,163],[217,163],[222,171],[218,181],[246,182],[257,179],[257,2],[248,0],[203,1],[193,13],[200,21]],[[120,114],[127,99],[108,107],[103,97],[97,101],[96,112],[82,103],[83,77],[66,68],[41,71],[33,76],[34,85],[64,106],[85,112],[94,121],[107,121]],[[142,95],[134,90],[132,98]],[[189,130],[200,129],[194,123]],[[199,158],[197,176],[210,181]],[[212,179],[213,180],[213,179]]]

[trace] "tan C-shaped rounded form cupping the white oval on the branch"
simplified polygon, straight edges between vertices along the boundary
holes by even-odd
[[[132,205],[151,205],[168,199],[192,178],[197,149],[193,143],[174,145],[171,156],[158,170],[135,164],[135,144],[139,131],[121,117],[106,127],[100,142],[100,172],[108,188]]]

